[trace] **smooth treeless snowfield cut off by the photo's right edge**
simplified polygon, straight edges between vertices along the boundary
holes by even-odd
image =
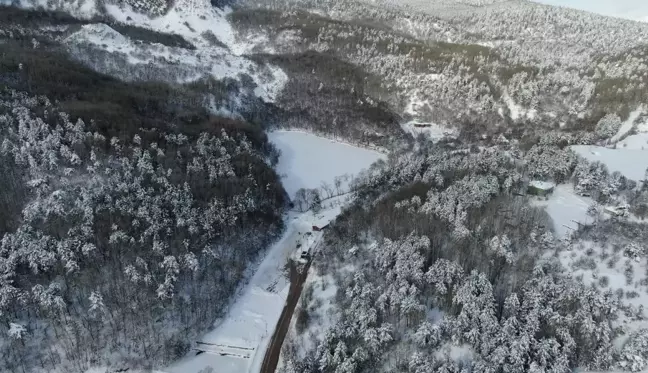
[[[571,149],[591,162],[602,162],[610,172],[619,171],[632,180],[643,180],[648,168],[648,150],[608,149],[594,145],[574,145]]]

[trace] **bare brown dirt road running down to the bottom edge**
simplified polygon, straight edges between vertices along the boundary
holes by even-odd
[[[286,298],[286,305],[284,306],[283,311],[281,311],[281,317],[279,317],[279,322],[277,322],[277,327],[275,328],[275,332],[270,340],[270,345],[268,346],[265,357],[263,358],[261,373],[274,373],[277,369],[279,355],[281,354],[281,346],[286,338],[286,334],[288,334],[290,320],[292,319],[292,315],[297,307],[297,302],[299,302],[301,292],[304,289],[304,282],[308,276],[308,269],[310,268],[311,261],[312,259],[306,263],[304,268],[302,268],[301,273],[297,269],[297,266],[291,262],[290,290],[288,292],[288,297]]]

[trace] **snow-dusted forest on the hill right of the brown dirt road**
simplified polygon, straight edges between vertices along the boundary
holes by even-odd
[[[546,212],[519,193],[524,175],[581,185],[580,169],[601,167],[549,149],[538,157],[544,159],[530,154],[535,162],[521,165],[502,149],[452,154],[422,145],[358,179],[359,198],[336,221],[322,260],[315,261],[317,273],[337,286],[333,311],[324,316],[330,326],[310,350],[286,346],[283,371],[645,369],[648,330],[614,323],[620,309],[628,319],[645,320],[643,306],[624,307],[623,291],[573,278],[558,259],[596,229],[561,240]],[[551,169],[544,163],[549,160],[556,163]],[[616,178],[606,174],[593,190],[607,198],[634,189]],[[610,184],[617,187],[610,190]],[[607,232],[599,239],[616,241],[617,232],[632,232],[614,242],[621,250],[615,250],[617,261],[646,255],[640,238],[645,223],[600,224]],[[646,273],[638,275],[646,284]],[[317,313],[321,300],[306,298],[302,305],[300,332],[314,322],[317,315],[309,313]],[[626,333],[629,341],[616,353],[613,342]]]

